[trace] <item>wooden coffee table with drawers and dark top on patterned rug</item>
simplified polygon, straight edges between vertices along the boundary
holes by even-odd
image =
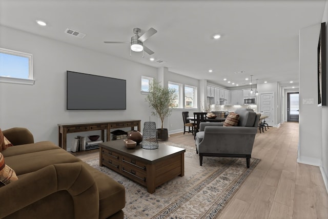
[[[159,144],[157,149],[137,145],[127,149],[123,140],[100,143],[99,165],[130,178],[154,193],[157,186],[185,175],[186,149]]]

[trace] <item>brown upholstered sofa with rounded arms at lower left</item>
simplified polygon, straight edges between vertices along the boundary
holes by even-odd
[[[18,180],[0,187],[0,218],[123,218],[125,188],[25,128],[3,131],[3,150]]]

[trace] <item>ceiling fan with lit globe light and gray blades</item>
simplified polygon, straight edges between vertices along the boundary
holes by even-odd
[[[157,30],[154,28],[150,28],[146,33],[142,34],[139,36],[141,30],[140,28],[133,28],[133,33],[135,34],[134,36],[131,37],[131,42],[112,42],[112,41],[105,41],[104,43],[106,44],[125,44],[125,43],[130,43],[131,44],[131,50],[134,52],[141,52],[145,51],[148,54],[152,55],[154,52],[150,50],[148,47],[144,45],[144,42],[146,39],[157,33]],[[130,54],[131,55],[131,54]]]

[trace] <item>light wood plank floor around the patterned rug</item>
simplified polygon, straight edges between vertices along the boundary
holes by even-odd
[[[261,162],[217,219],[328,218],[328,195],[319,167],[297,163],[298,133],[298,123],[257,133],[252,157]],[[169,142],[195,145],[191,133],[173,134]],[[88,160],[98,151],[76,156]]]

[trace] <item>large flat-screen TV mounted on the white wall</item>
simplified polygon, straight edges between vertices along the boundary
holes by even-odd
[[[67,71],[68,110],[122,110],[126,80]]]

